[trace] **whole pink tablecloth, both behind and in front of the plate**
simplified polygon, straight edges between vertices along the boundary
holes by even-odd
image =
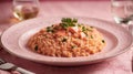
[[[43,1],[40,8],[39,17],[82,15],[113,21],[109,1]],[[0,3],[0,9],[2,10],[0,32],[2,32],[16,21],[10,19],[10,2]],[[58,67],[27,61],[9,54],[3,49],[0,50],[0,57],[37,74],[132,74],[131,51],[98,64],[74,67]],[[8,74],[8,72],[0,70],[0,74]]]

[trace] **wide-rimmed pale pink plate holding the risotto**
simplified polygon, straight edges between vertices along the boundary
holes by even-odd
[[[19,57],[57,66],[75,66],[102,62],[106,59],[124,53],[131,47],[132,35],[123,27],[100,19],[78,18],[79,23],[95,27],[104,36],[106,46],[102,52],[79,57],[53,57],[30,51],[25,44],[31,35],[40,29],[59,23],[62,18],[35,18],[22,21],[9,28],[1,36],[3,47]]]

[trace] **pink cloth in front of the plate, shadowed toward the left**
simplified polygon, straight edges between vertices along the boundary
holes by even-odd
[[[74,67],[58,67],[40,64],[13,56],[3,50],[0,52],[0,56],[37,74],[132,74],[132,50],[101,63]],[[10,73],[0,71],[0,74]]]

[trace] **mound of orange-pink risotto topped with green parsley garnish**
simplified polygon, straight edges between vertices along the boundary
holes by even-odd
[[[60,23],[43,28],[28,41],[28,47],[32,51],[58,57],[89,56],[104,46],[102,33],[71,18],[63,18]]]

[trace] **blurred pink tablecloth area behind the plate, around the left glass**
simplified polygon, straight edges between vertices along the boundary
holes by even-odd
[[[12,13],[13,0],[0,0],[0,31],[18,22]],[[110,0],[39,0],[38,17],[80,15],[112,20]],[[80,2],[79,2],[80,1]],[[106,7],[104,7],[106,6]],[[93,13],[93,14],[92,14]]]

